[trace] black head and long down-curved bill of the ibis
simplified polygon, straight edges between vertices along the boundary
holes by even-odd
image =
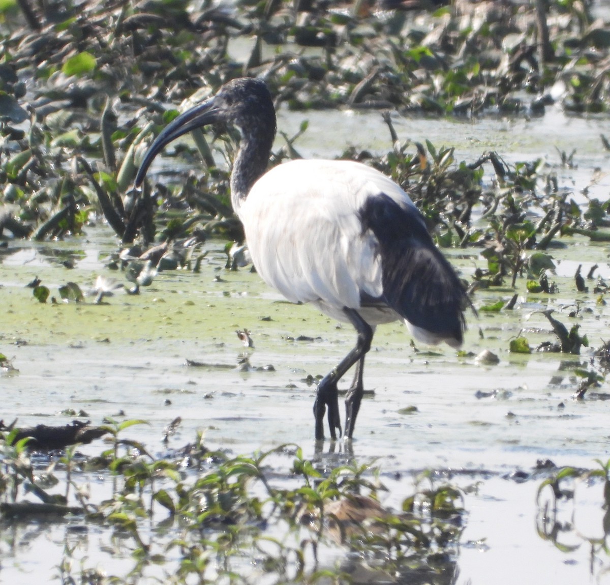
[[[174,118],[146,152],[135,177],[135,186],[142,184],[152,160],[165,145],[195,128],[219,122],[234,124],[245,137],[254,133],[270,136],[270,140],[265,138],[265,144],[268,143],[270,148],[275,136],[276,120],[273,99],[265,82],[254,78],[233,79],[209,100]]]

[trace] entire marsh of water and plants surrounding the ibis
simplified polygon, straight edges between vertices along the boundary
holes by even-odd
[[[4,580],[608,581],[604,2],[0,14]],[[460,352],[379,329],[351,448],[314,445],[311,406],[353,332],[250,271],[237,136],[185,137],[131,187],[241,75],[276,96],[271,164],[392,176],[478,311]],[[38,424],[90,443],[20,440]]]

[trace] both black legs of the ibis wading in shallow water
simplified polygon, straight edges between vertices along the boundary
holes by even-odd
[[[331,372],[326,374],[318,384],[318,391],[314,402],[314,416],[315,416],[315,438],[316,440],[324,439],[324,414],[326,412],[326,405],[328,405],[328,424],[331,431],[331,438],[335,439],[335,429],[339,429],[341,433],[341,422],[339,416],[339,396],[337,395],[337,382],[343,377],[346,371],[351,368],[356,362],[361,360],[364,362],[364,356],[371,347],[371,340],[373,340],[373,329],[371,326],[362,319],[360,314],[354,309],[343,308],[343,313],[350,319],[350,322],[356,328],[358,338],[356,341],[356,347],[354,347],[344,358],[341,360],[336,368],[332,369]],[[359,374],[360,371],[360,374]],[[359,376],[358,376],[359,374]],[[362,388],[362,365],[359,363],[356,369],[356,375],[361,379],[360,385]],[[354,378],[356,382],[356,378]],[[362,392],[360,393],[362,398]],[[354,393],[354,398],[350,402],[357,402],[356,410],[351,411],[350,420],[350,437],[351,432],[354,430],[354,423],[356,421],[357,408],[360,406],[360,400],[357,399],[357,392]],[[347,429],[347,427],[346,427]]]

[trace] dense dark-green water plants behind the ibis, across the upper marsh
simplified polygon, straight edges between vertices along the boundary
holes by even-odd
[[[383,8],[238,2],[229,12],[182,0],[140,12],[120,3],[92,2],[82,10],[7,4],[11,18],[0,23],[0,233],[61,238],[103,216],[126,243],[167,241],[194,230],[242,239],[228,206],[228,173],[201,133],[194,136],[196,151],[183,145],[176,153],[185,169],[201,155],[208,167],[203,176],[184,181],[186,171],[171,172],[181,187],[131,189],[147,141],[177,114],[166,104],[192,103],[239,74],[264,76],[278,104],[299,110],[542,115],[553,100],[570,111],[598,111],[608,103],[603,56],[610,43],[586,3],[551,2],[547,13],[509,4]],[[244,46],[249,54],[246,49],[236,61]],[[532,96],[529,106],[523,92]],[[287,137],[275,163],[298,156],[298,136]],[[536,192],[548,180],[537,176],[536,163],[512,170],[498,154],[482,153],[455,166],[451,150],[428,142],[427,153],[421,145],[409,153],[395,133],[392,142],[393,150],[371,164],[412,190],[431,227],[442,226],[441,245],[481,242],[470,220],[473,206],[483,205],[487,237],[495,232],[501,248],[501,273],[520,272],[520,251],[533,245],[534,231],[537,247],[545,249],[560,228],[564,234],[589,229],[566,220],[561,197],[541,201]],[[226,142],[225,149],[230,162],[234,146]],[[571,164],[574,152],[560,154]],[[494,189],[481,186],[486,161],[497,173]],[[533,198],[545,216],[523,239],[514,226],[523,224],[520,213]],[[504,217],[494,220],[498,206]],[[598,209],[605,214],[603,205]]]

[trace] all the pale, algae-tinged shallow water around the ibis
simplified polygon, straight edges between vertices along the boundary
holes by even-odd
[[[326,128],[337,116],[340,131],[329,137]],[[334,156],[346,145],[388,148],[387,128],[378,114],[282,114],[279,126],[290,134],[303,118],[310,127],[296,147],[306,156]],[[566,118],[553,111],[529,121],[397,119],[396,125],[403,139],[456,146],[458,160],[473,161],[484,150],[497,150],[509,162],[543,157],[554,165],[559,184],[572,185],[581,201],[580,191],[595,167],[607,167],[610,158],[598,138],[599,133],[610,135],[608,120]],[[559,167],[556,148],[576,148],[578,169]],[[606,199],[609,187],[608,175],[603,175],[589,196]],[[610,277],[608,246],[578,236],[569,243],[552,251],[558,263],[553,278],[561,292],[526,295],[520,279],[514,311],[479,319],[470,315],[464,344],[468,357],[448,347],[420,346],[415,352],[406,329],[390,324],[379,327],[367,358],[365,386],[375,396],[362,405],[353,457],[381,467],[389,487],[386,504],[400,506],[412,491],[415,474],[424,469],[439,470],[464,488],[478,485],[465,496],[456,583],[610,582],[610,559],[600,551],[592,555],[587,540],[604,536],[603,484],[578,485],[575,502],[558,510],[564,522],[561,538],[578,545],[564,552],[536,530],[536,491],[545,476],[534,471],[538,460],[594,468],[596,458],[608,459],[608,383],[595,390],[597,398],[592,391],[583,401],[571,398],[579,382],[573,366],[580,363],[586,369],[592,355],[586,347],[580,356],[508,352],[509,339],[522,330],[532,346],[553,340],[539,312],[547,307],[567,324],[579,322],[592,346],[606,340],[609,310],[597,303],[596,294],[576,293],[573,274],[578,264],[586,274],[597,263],[597,274]],[[73,409],[84,411],[94,424],[104,416],[149,421],[130,427],[126,436],[142,441],[155,456],[181,448],[203,429],[209,448],[233,454],[296,443],[322,466],[348,459],[342,443],[327,441],[325,450],[316,452],[315,387],[306,377],[328,372],[353,343],[353,332],[312,307],[283,302],[247,269],[224,271],[223,245],[207,242],[199,274],[163,272],[139,296],[120,291],[102,305],[41,305],[24,288],[36,276],[58,298],[58,286],[71,280],[85,289],[98,274],[127,285],[124,274],[105,267],[117,242],[105,227],[87,228],[85,237],[65,242],[9,241],[8,249],[0,250],[0,352],[13,358],[18,372],[0,372],[5,423],[18,418],[21,426],[65,424],[74,415],[62,411]],[[448,255],[465,277],[484,265],[476,250],[467,256],[450,250]],[[63,266],[67,258],[75,269]],[[508,300],[512,293],[509,288],[479,291],[475,305],[498,295]],[[570,319],[562,309],[575,299],[581,316]],[[235,330],[243,328],[251,331],[254,349],[237,338]],[[311,339],[295,341],[298,336]],[[474,355],[483,349],[497,353],[500,363],[478,365]],[[252,367],[242,371],[237,366],[246,357]],[[187,367],[187,359],[206,366]],[[399,412],[411,406],[417,408],[414,413]],[[181,426],[164,445],[163,429],[177,416]],[[82,452],[98,454],[101,445],[96,441]],[[104,476],[82,481],[96,493],[111,489]],[[81,529],[85,536],[75,536]],[[129,570],[128,554],[109,550],[108,535],[97,528],[79,528],[77,521],[76,528],[72,521],[33,523],[3,534],[2,577],[13,583],[45,582],[56,574],[65,543],[76,541],[90,564],[112,559],[113,573]]]

